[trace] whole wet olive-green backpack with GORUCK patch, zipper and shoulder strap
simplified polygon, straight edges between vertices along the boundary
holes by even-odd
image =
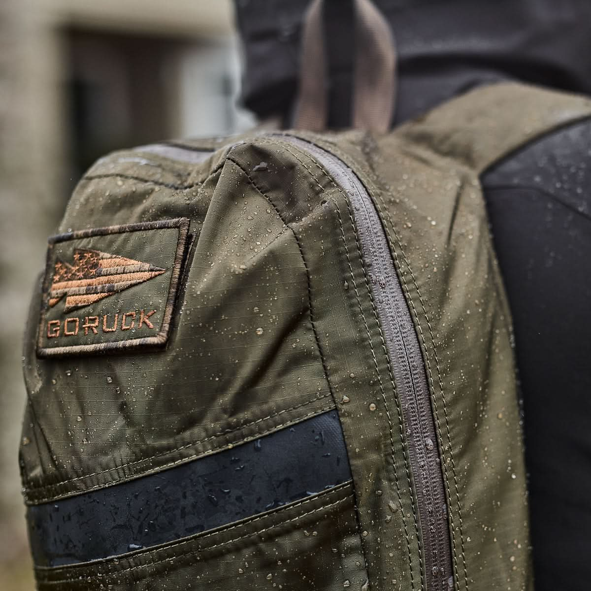
[[[576,96],[495,85],[384,135],[99,160],[25,339],[38,589],[532,589],[511,317],[478,178],[589,116]],[[175,496],[170,475],[218,462],[239,478],[252,442],[282,461],[296,446],[272,438],[321,419],[346,448],[334,473],[310,467],[326,482],[158,537],[197,482]],[[152,505],[134,514],[137,498]],[[78,544],[79,516],[103,510]]]

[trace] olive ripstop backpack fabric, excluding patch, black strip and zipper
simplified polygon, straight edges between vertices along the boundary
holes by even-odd
[[[427,370],[457,590],[532,586],[511,319],[478,173],[589,113],[576,97],[501,85],[388,135],[298,134],[353,168],[378,207]],[[164,349],[38,358],[35,294],[25,501],[158,473],[333,408],[352,481],[156,548],[37,567],[39,589],[424,589],[379,277],[348,197],[278,137],[184,145],[211,155],[188,164],[118,152],[74,191],[62,232],[186,217],[191,246]]]

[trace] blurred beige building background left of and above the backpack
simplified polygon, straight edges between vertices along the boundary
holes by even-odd
[[[230,0],[0,0],[0,589],[31,591],[21,333],[83,171],[111,150],[248,129]]]

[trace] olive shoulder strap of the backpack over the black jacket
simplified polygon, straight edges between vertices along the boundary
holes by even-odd
[[[591,99],[519,83],[482,86],[398,129],[480,174],[528,141],[591,117]]]

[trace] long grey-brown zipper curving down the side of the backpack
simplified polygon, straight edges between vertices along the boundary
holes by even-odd
[[[378,210],[359,177],[332,152],[291,135],[272,135],[317,160],[349,197],[404,417],[426,588],[449,591],[453,588],[450,530],[427,373]]]

